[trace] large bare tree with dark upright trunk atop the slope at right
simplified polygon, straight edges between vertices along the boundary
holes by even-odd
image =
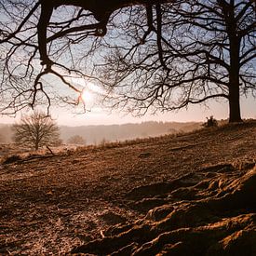
[[[223,98],[229,102],[229,121],[241,121],[240,95],[255,97],[256,89],[254,1],[138,7],[113,26],[118,45],[99,74],[113,89],[114,106],[144,114],[150,107],[178,110]]]

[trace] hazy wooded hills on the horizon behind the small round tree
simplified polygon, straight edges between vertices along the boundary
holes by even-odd
[[[87,144],[99,144],[101,141],[125,141],[136,138],[156,137],[164,134],[188,132],[201,128],[201,123],[188,122],[142,122],[140,124],[108,126],[61,126],[61,139],[66,143],[72,136],[80,135]],[[0,124],[0,143],[11,142],[11,125]],[[2,139],[1,139],[2,138]]]

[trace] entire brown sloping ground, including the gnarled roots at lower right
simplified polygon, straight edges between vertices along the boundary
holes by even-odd
[[[2,164],[0,254],[254,255],[255,159],[248,122]]]

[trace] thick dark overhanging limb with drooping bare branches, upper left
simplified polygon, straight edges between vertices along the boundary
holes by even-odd
[[[77,104],[83,88],[71,77],[93,76],[87,57],[106,34],[111,15],[148,2],[0,0],[1,112],[11,115],[37,103],[60,104],[59,98]],[[73,92],[65,93],[63,84]]]

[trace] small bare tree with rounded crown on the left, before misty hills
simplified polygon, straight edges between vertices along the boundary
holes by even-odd
[[[13,126],[13,140],[18,144],[33,147],[37,150],[44,145],[61,143],[59,128],[56,123],[40,112],[23,116],[20,123]]]

